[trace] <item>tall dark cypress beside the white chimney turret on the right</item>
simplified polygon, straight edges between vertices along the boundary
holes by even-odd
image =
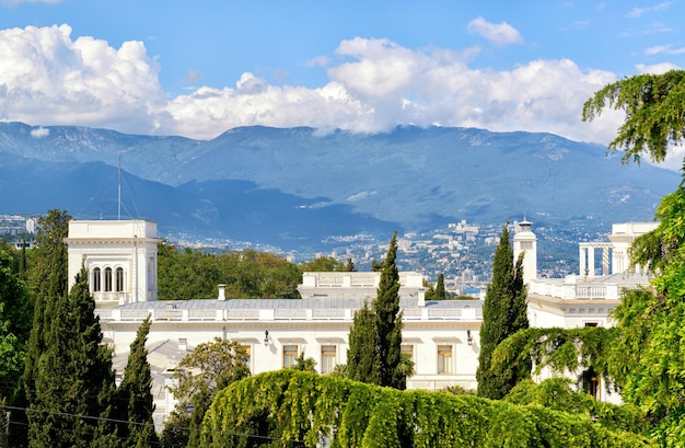
[[[478,356],[478,395],[499,400],[515,386],[530,377],[530,366],[502,371],[490,369],[492,352],[507,336],[529,328],[523,285],[523,256],[513,262],[509,241],[509,222],[502,229],[492,263],[492,280],[488,285],[483,305],[480,328],[480,354]]]

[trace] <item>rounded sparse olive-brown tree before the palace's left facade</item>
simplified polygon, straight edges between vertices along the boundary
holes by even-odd
[[[196,346],[178,363],[174,371],[176,384],[171,391],[178,400],[176,421],[189,423],[190,446],[197,445],[199,424],[217,392],[249,375],[247,360],[247,351],[243,345],[214,337],[212,342]],[[191,410],[189,415],[188,410]],[[167,433],[171,430],[170,427]]]

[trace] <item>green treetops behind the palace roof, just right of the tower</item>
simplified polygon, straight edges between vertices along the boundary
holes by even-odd
[[[216,299],[217,285],[228,298],[297,299],[300,268],[285,257],[245,250],[219,255],[172,245],[159,246],[161,300]]]

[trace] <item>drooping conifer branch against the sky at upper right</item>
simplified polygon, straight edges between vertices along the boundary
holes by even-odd
[[[583,105],[582,119],[593,120],[606,107],[626,113],[609,150],[624,150],[623,162],[639,163],[643,152],[662,162],[670,145],[685,130],[685,71],[638,74],[605,85]]]

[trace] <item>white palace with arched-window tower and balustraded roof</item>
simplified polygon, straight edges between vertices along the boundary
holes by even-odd
[[[609,242],[580,244],[578,275],[543,279],[536,276],[537,239],[531,222],[518,223],[514,255],[525,252],[531,325],[612,325],[607,314],[618,305],[622,289],[649,282],[645,274],[626,271],[627,248],[636,236],[654,227],[614,225]],[[158,423],[175,404],[165,386],[177,363],[196,345],[217,336],[247,347],[253,374],[289,367],[301,353],[316,361],[321,374],[345,364],[355,311],[375,297],[380,280],[380,274],[372,272],[304,273],[298,287],[301,300],[230,299],[219,285],[216,300],[158,301],[161,239],[154,222],[73,220],[66,242],[70,282],[85,266],[104,341],[114,349],[118,371],[126,366],[140,323],[151,315],[147,348]],[[420,274],[400,273],[399,280],[402,349],[415,366],[407,388],[475,389],[483,301],[427,301]]]

